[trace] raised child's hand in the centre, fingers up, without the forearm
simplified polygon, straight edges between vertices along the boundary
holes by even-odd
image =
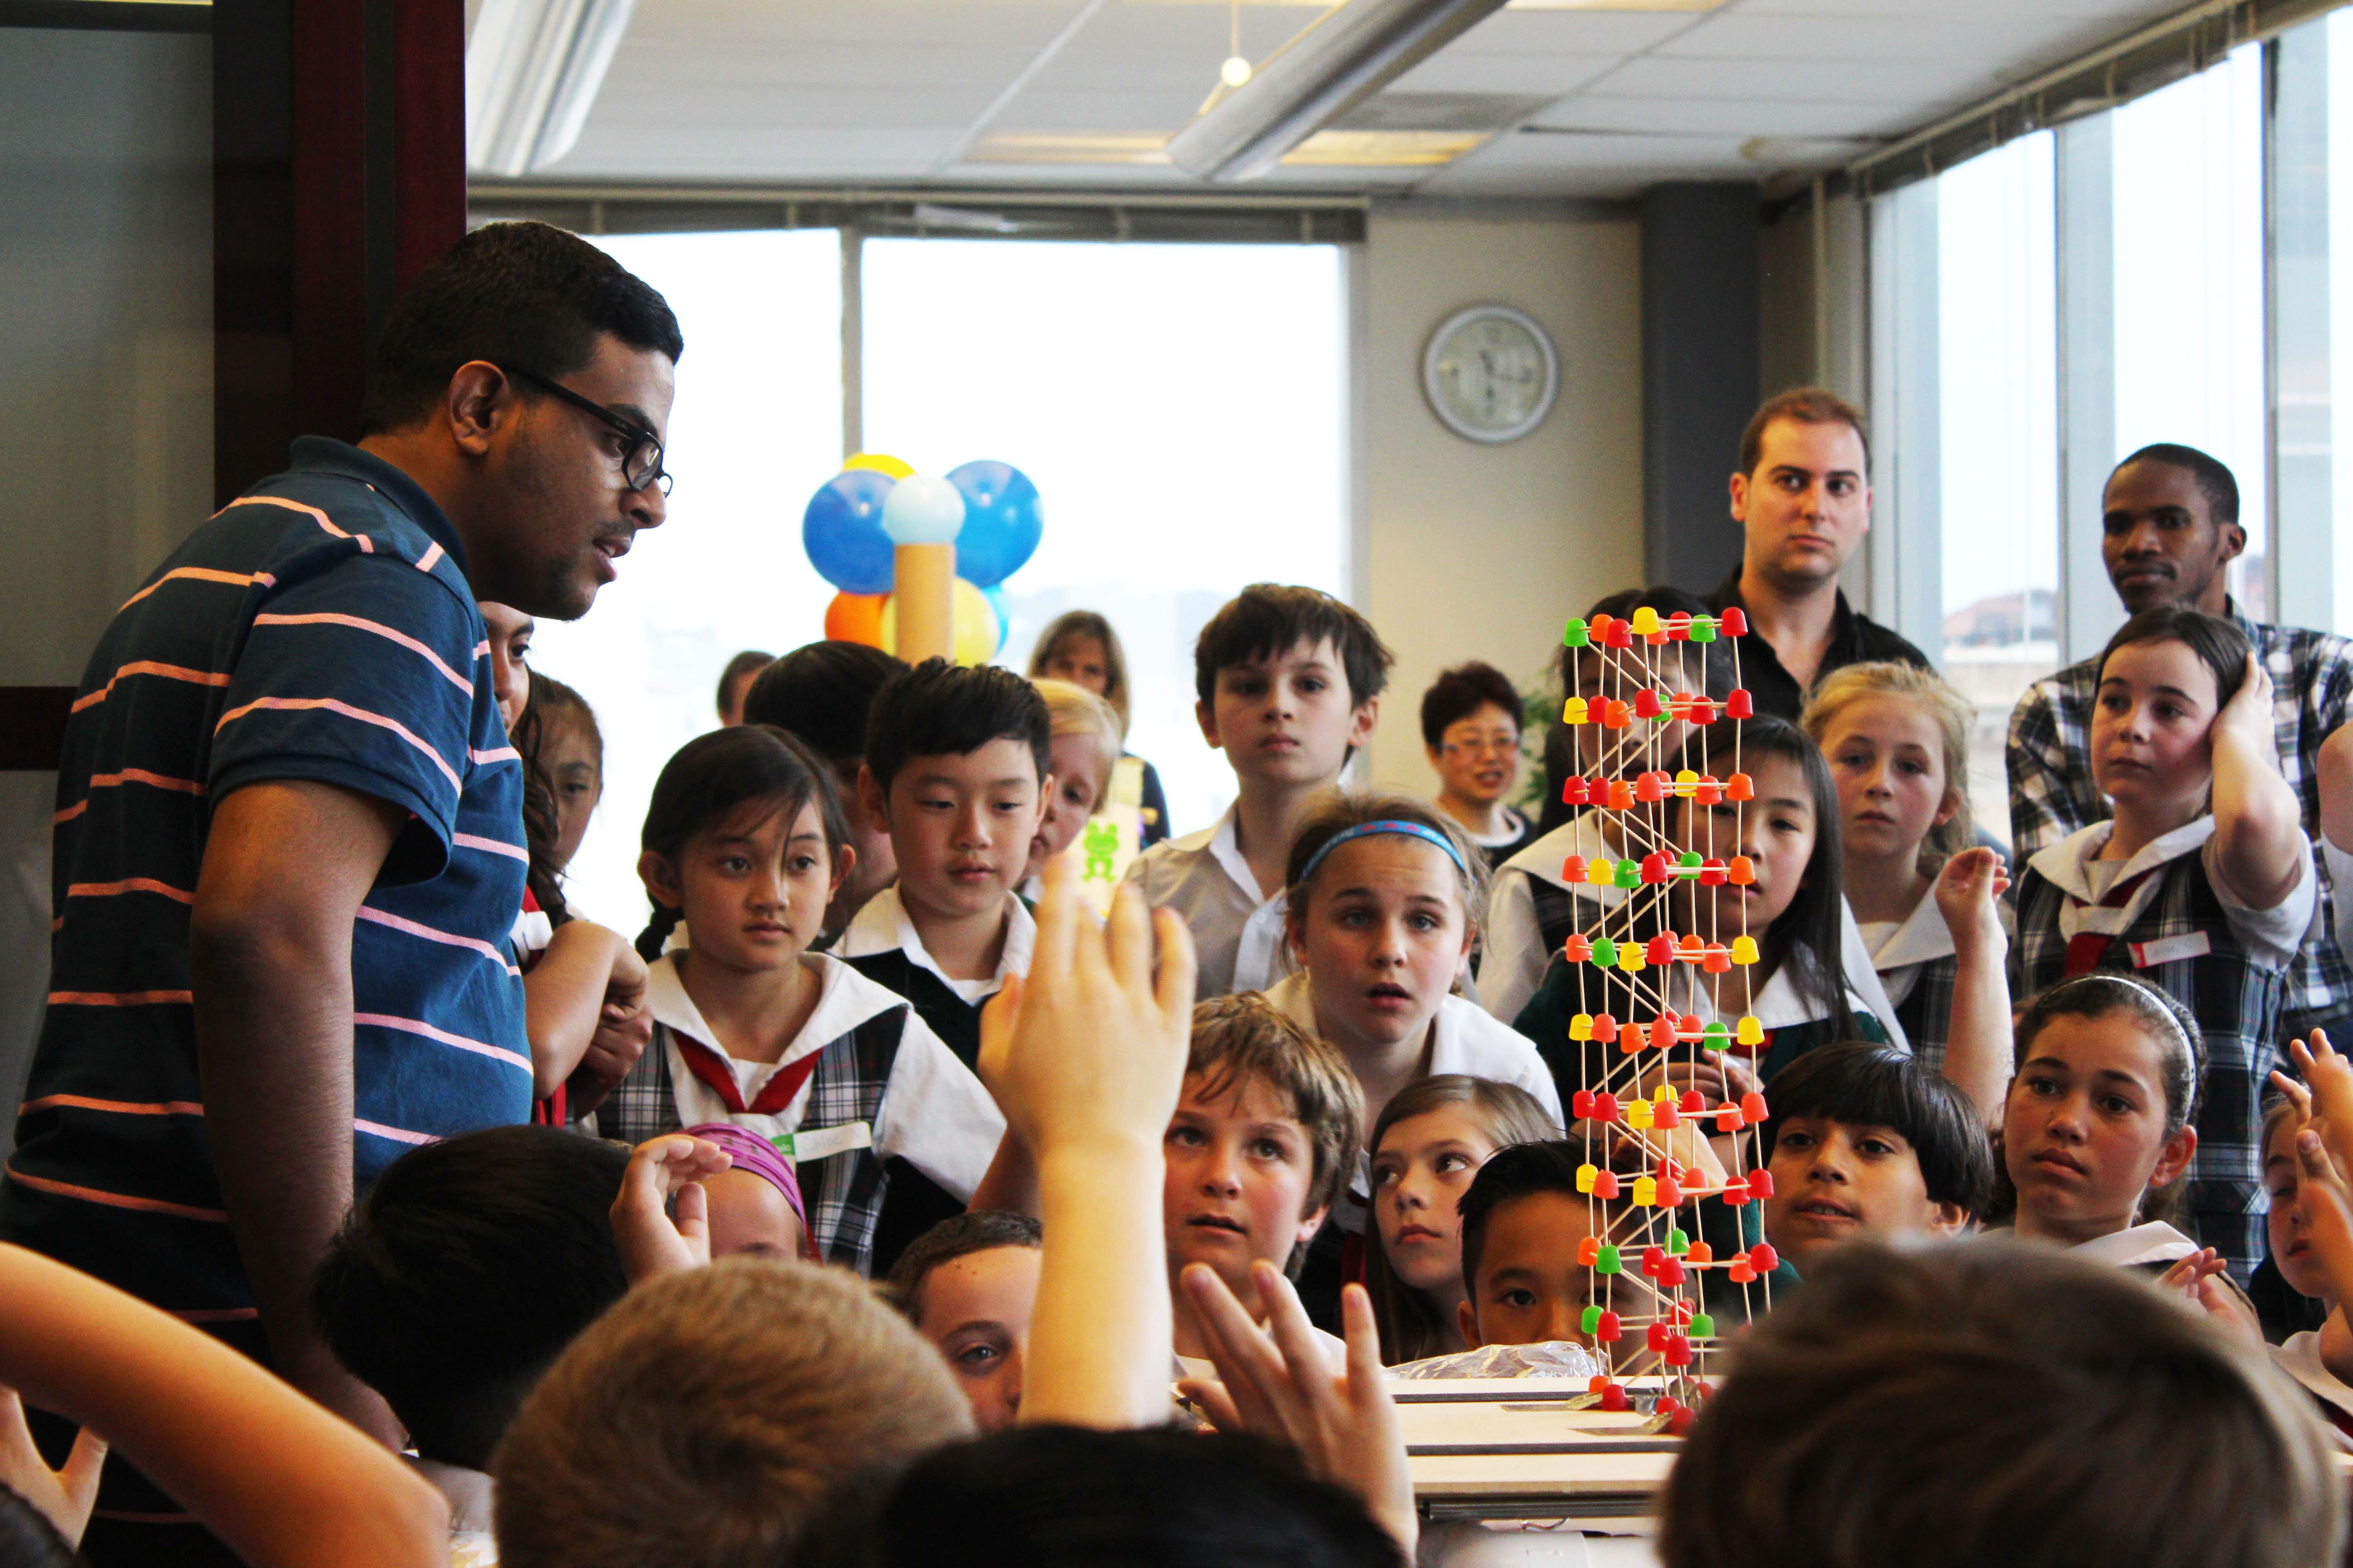
[[[1101,1145],[1158,1152],[1191,1039],[1193,938],[1176,912],[1148,912],[1127,884],[1096,929],[1078,865],[1047,860],[1031,973],[981,1013],[981,1081],[1007,1128],[1040,1161]]]

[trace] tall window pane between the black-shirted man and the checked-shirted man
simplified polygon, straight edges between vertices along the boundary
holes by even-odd
[[[2002,842],[2009,710],[2059,665],[2052,179],[2042,132],[1937,181],[1944,672],[1977,703],[1969,804]]]

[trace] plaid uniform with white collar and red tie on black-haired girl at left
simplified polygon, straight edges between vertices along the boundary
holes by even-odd
[[[598,1107],[598,1128],[645,1143],[734,1121],[760,1138],[788,1138],[816,1251],[866,1274],[889,1190],[885,1161],[904,1159],[958,1204],[972,1201],[1005,1117],[906,997],[835,957],[800,961],[824,987],[816,1011],[781,1058],[744,1063],[725,1053],[687,994],[678,950],[654,959],[645,985],[654,1037]]]

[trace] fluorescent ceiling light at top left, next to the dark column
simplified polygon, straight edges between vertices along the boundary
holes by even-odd
[[[581,136],[638,0],[482,0],[466,42],[466,162],[544,169]]]

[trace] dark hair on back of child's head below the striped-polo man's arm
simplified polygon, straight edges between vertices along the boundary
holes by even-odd
[[[351,1206],[311,1279],[334,1359],[428,1460],[489,1467],[539,1373],[628,1291],[628,1150],[553,1126],[428,1143]]]

